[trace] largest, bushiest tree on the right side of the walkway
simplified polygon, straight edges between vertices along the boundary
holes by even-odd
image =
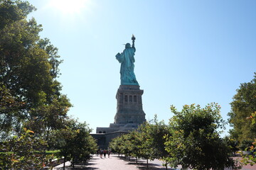
[[[205,108],[185,105],[181,112],[171,106],[174,117],[169,121],[169,136],[166,150],[171,157],[166,159],[171,166],[182,165],[183,169],[235,169],[232,151],[220,138],[218,128],[224,127],[220,106],[210,103]]]

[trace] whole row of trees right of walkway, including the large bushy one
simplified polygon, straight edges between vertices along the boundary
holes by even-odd
[[[225,121],[220,115],[220,106],[210,103],[206,107],[183,106],[177,111],[171,106],[174,116],[169,125],[158,122],[144,123],[138,130],[117,137],[110,142],[114,151],[127,156],[144,159],[161,159],[167,167],[182,169],[239,169],[240,164],[232,158],[234,149],[229,138],[221,138]]]

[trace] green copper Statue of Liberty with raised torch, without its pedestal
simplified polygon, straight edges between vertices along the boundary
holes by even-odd
[[[121,85],[139,85],[134,74],[134,47],[135,37],[132,35],[132,47],[129,43],[125,45],[124,51],[120,54],[119,52],[115,56],[116,59],[121,63],[120,74],[121,74]]]

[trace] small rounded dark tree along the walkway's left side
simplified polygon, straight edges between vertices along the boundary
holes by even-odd
[[[90,132],[91,129],[86,123],[78,123],[74,119],[66,120],[65,128],[55,130],[52,135],[55,137],[55,148],[60,149],[59,157],[64,157],[64,162],[71,161],[73,166],[90,159],[90,154],[97,150],[97,144]]]

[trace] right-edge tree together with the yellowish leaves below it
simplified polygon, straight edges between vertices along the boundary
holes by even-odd
[[[230,125],[233,126],[230,135],[240,142],[242,163],[256,164],[256,73],[252,81],[240,84],[230,105],[231,112],[228,115]],[[243,154],[244,151],[250,154]]]

